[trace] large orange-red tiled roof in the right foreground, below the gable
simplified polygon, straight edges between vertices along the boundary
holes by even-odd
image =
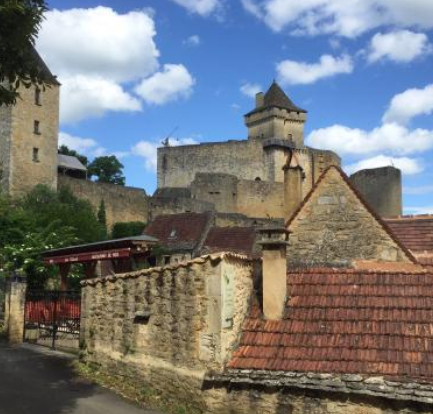
[[[310,269],[288,284],[282,320],[252,305],[229,368],[433,382],[433,274]]]

